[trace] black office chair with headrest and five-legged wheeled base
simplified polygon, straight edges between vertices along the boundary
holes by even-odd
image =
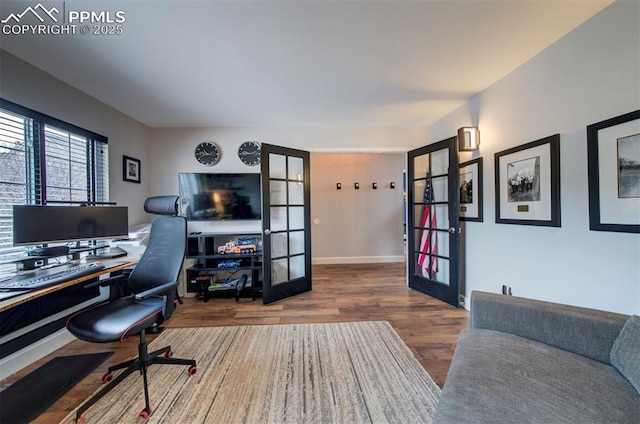
[[[186,251],[187,224],[177,216],[177,196],[150,197],[145,201],[145,211],[161,216],[151,224],[147,248],[128,276],[127,285],[131,295],[99,304],[71,316],[67,329],[82,340],[95,343],[123,341],[139,334],[138,356],[132,360],[109,367],[102,380],[107,384],[91,399],[83,403],[76,414],[82,422],[82,414],[100,398],[134,371],[140,371],[144,382],[145,408],[138,414],[148,418],[149,390],[147,367],[151,364],[188,365],[188,373],[196,372],[193,359],[172,358],[170,346],[149,353],[145,331],[169,318],[177,302],[178,277]],[[112,372],[125,370],[113,379]]]

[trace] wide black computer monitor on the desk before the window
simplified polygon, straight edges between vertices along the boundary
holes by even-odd
[[[126,207],[13,206],[13,244],[113,239],[129,235]]]

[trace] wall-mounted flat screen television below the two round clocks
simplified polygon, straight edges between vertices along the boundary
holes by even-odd
[[[260,174],[178,174],[180,215],[188,220],[260,220]]]

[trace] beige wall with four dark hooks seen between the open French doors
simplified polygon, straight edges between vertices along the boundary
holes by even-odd
[[[314,263],[404,261],[405,163],[403,153],[311,155]]]

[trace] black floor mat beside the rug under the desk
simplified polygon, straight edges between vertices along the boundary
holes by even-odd
[[[0,392],[0,423],[28,423],[113,352],[59,356]]]

